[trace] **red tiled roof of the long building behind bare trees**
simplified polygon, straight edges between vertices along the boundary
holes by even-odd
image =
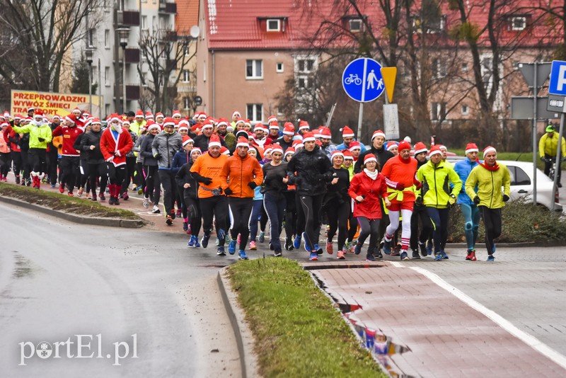
[[[180,4],[183,1],[178,1]],[[418,1],[417,1],[418,2]],[[311,4],[305,11],[302,6]],[[342,4],[342,5],[339,5]],[[483,27],[487,23],[488,12],[484,0],[470,0],[470,21]],[[474,5],[475,4],[475,5]],[[529,6],[531,0],[517,0],[514,8]],[[360,0],[356,5],[367,16],[374,34],[381,37],[385,30],[385,17],[376,1]],[[309,43],[324,20],[339,21],[345,14],[354,15],[348,8],[347,1],[296,1],[296,0],[204,0],[204,17],[206,25],[203,32],[207,33],[208,47],[212,50],[262,50],[262,49],[298,49],[308,48]],[[180,5],[178,5],[178,8]],[[417,5],[415,5],[415,9]],[[502,8],[497,17],[504,20],[511,9]],[[458,12],[442,5],[442,13],[446,15],[446,30],[454,28],[458,21]],[[530,12],[531,14],[533,11]],[[415,11],[417,14],[417,11]],[[284,19],[284,31],[267,32],[266,18]],[[532,15],[530,20],[536,27],[527,28],[522,35],[522,45],[541,45],[552,43],[555,34],[550,32],[550,26],[543,19]],[[529,21],[528,21],[529,22]],[[518,33],[507,30],[508,23],[502,22],[500,38],[503,41],[513,40]],[[437,37],[438,38],[438,37]],[[442,37],[440,37],[442,39]],[[446,37],[444,37],[446,38]],[[480,43],[487,41],[487,32],[483,33]],[[333,40],[332,42],[337,42]],[[345,40],[343,41],[345,42]],[[328,43],[328,42],[326,42]],[[403,45],[403,40],[401,44]],[[449,43],[450,44],[450,43]],[[462,42],[465,45],[465,42]],[[343,45],[343,43],[342,43]]]

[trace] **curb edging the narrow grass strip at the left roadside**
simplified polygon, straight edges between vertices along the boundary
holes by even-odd
[[[65,219],[69,222],[74,222],[78,224],[92,224],[95,226],[107,226],[107,227],[124,227],[127,229],[138,229],[140,227],[144,227],[145,225],[145,222],[141,219],[134,220],[134,219],[120,219],[120,218],[86,217],[81,215],[69,214],[67,212],[61,212],[59,210],[48,209],[47,207],[42,207],[40,205],[23,202],[21,200],[16,200],[9,197],[0,197],[0,202],[8,203],[9,205],[23,207],[25,209],[33,210],[36,212],[41,212],[43,214],[47,214],[52,217]]]

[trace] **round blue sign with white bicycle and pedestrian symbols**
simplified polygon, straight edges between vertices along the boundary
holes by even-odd
[[[352,60],[342,74],[342,86],[354,101],[368,103],[385,91],[381,64],[371,58]]]

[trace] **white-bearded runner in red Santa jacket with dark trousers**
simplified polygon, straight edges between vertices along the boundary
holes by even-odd
[[[100,137],[100,151],[108,167],[110,199],[108,205],[120,205],[118,195],[126,174],[126,154],[134,147],[129,132],[122,130],[122,120],[117,114],[110,116],[110,127]]]

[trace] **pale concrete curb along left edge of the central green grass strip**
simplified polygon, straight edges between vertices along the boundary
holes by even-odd
[[[230,318],[230,323],[236,336],[238,353],[240,354],[240,365],[242,377],[259,377],[258,359],[253,353],[254,339],[250,328],[244,320],[243,311],[238,307],[236,293],[231,289],[230,282],[226,278],[228,268],[222,268],[218,272],[218,286],[222,294],[226,314]]]

